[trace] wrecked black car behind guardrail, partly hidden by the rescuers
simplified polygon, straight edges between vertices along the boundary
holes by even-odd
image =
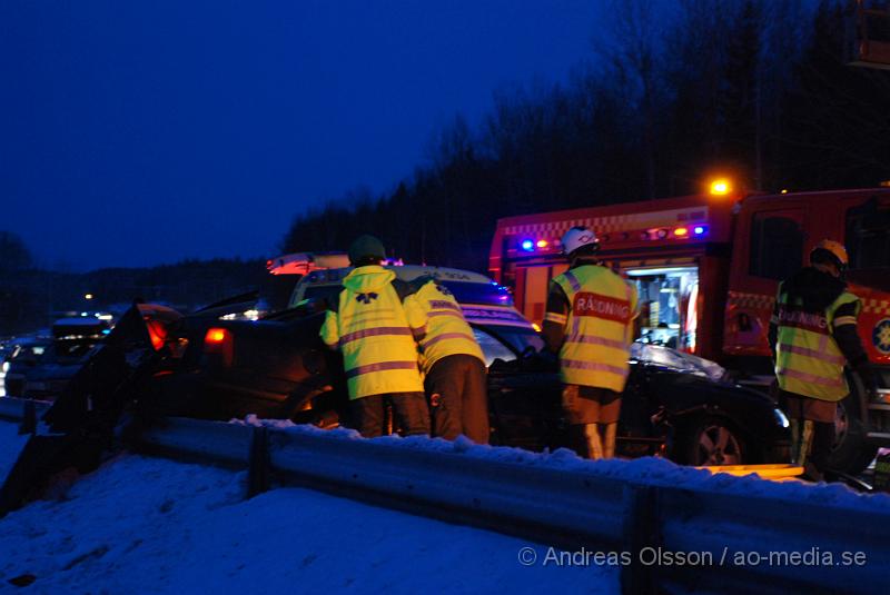
[[[347,398],[338,354],[318,338],[324,315],[304,305],[256,321],[220,319],[231,304],[182,318],[167,337],[179,353],[154,376],[164,415],[293,419],[330,427]],[[493,442],[541,450],[565,445],[556,365],[526,325],[473,324],[488,364]],[[765,395],[721,379],[722,368],[666,347],[635,344],[619,455],[679,463],[787,463],[784,415]]]

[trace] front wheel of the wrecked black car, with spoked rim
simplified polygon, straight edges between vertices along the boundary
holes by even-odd
[[[700,417],[686,425],[678,440],[678,463],[686,465],[745,465],[751,463],[741,433],[726,418]]]

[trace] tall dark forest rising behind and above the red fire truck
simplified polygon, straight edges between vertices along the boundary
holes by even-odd
[[[609,13],[568,82],[501,90],[481,127],[457,117],[436,135],[412,179],[297,217],[281,248],[372,232],[406,260],[484,270],[498,217],[693,194],[715,169],[764,190],[890,179],[890,72],[847,66],[850,3],[681,0],[668,14],[624,0]]]

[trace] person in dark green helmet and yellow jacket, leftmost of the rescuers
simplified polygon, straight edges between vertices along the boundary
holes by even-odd
[[[429,434],[416,344],[424,335],[425,317],[412,304],[403,304],[406,284],[380,266],[386,258],[380,240],[362,236],[348,256],[356,268],[343,280],[319,335],[343,353],[352,425],[365,437],[380,436],[388,401],[403,434]]]

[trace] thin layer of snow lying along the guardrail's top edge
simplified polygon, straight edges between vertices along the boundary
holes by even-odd
[[[323,434],[336,436],[345,440],[362,440],[357,432],[352,429],[323,430],[313,426],[298,426],[289,420],[257,419],[247,416],[244,420],[233,419],[234,424],[266,426],[287,433]],[[640,482],[649,485],[691,488],[722,494],[738,494],[742,496],[769,497],[789,500],[789,504],[812,503],[863,510],[890,512],[889,494],[860,494],[843,484],[809,484],[803,482],[770,482],[763,480],[755,474],[735,477],[729,474],[712,474],[705,469],[695,469],[676,465],[670,460],[656,457],[643,457],[633,460],[589,460],[578,457],[573,450],[560,448],[552,453],[532,453],[522,448],[503,446],[476,445],[473,442],[458,437],[451,443],[443,439],[429,439],[422,436],[400,438],[385,436],[374,438],[374,442],[390,444],[398,448],[411,448],[437,453],[452,453],[455,455],[498,460],[533,467],[563,469],[590,474],[592,477],[610,477],[626,482]]]

